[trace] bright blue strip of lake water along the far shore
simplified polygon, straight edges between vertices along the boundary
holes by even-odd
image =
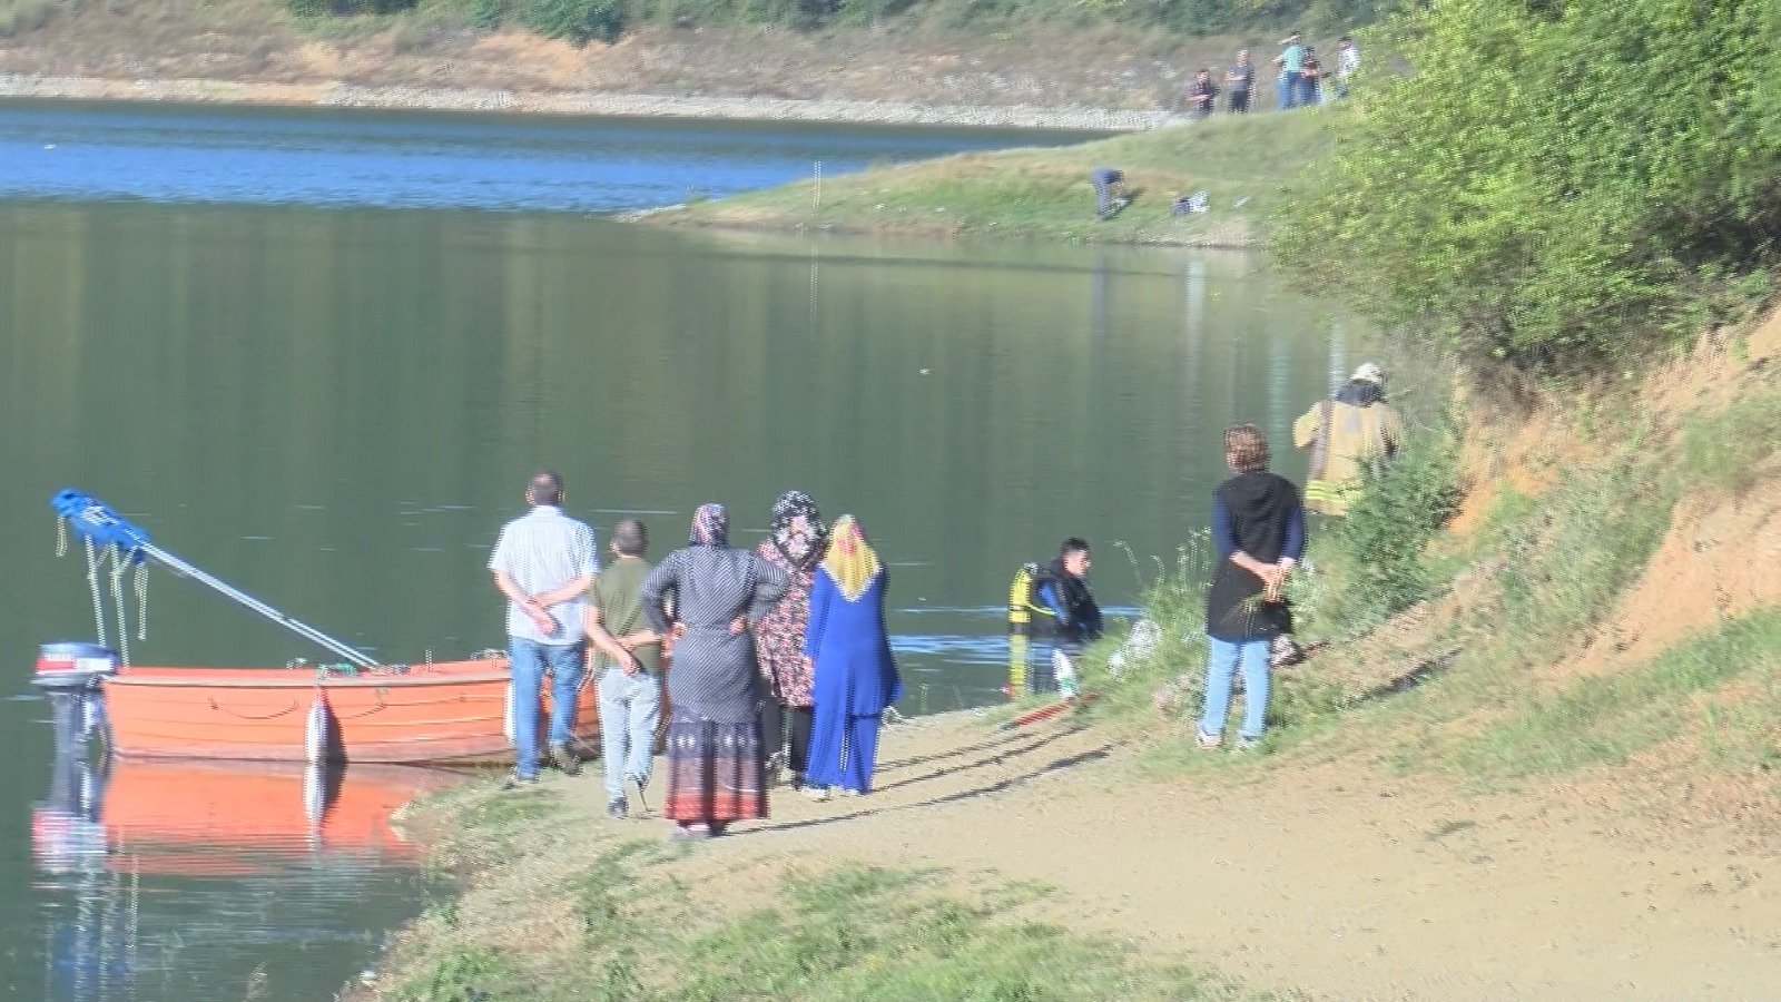
[[[613,212],[1081,132],[0,102],[0,198]]]

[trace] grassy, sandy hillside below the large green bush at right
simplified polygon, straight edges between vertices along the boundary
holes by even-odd
[[[1329,644],[1277,674],[1266,747],[1298,754],[1202,756],[1181,727],[1152,761],[1362,756],[1473,788],[1633,770],[1781,797],[1781,581],[1754,556],[1781,542],[1781,448],[1753,435],[1781,408],[1776,358],[1781,314],[1637,383],[1425,428],[1293,583],[1300,640]],[[1092,653],[1095,719],[1199,706],[1206,576],[1190,546],[1151,587],[1154,656],[1115,674],[1120,637]]]

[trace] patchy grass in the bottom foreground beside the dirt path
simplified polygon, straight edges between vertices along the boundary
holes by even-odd
[[[787,858],[712,886],[698,852],[552,790],[481,783],[429,813],[452,825],[436,854],[477,879],[404,932],[376,991],[392,1002],[1259,998],[1038,920],[1053,891],[1031,883]]]

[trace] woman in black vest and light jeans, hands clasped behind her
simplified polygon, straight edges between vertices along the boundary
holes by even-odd
[[[1241,665],[1238,749],[1248,749],[1268,719],[1268,644],[1289,629],[1281,587],[1305,547],[1305,510],[1293,481],[1268,472],[1261,428],[1227,428],[1224,446],[1236,476],[1213,492],[1218,565],[1206,592],[1206,710],[1199,740],[1202,749],[1224,742],[1231,681]]]

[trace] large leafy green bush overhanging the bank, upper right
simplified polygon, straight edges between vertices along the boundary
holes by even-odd
[[[1473,358],[1576,371],[1692,333],[1776,262],[1772,0],[1443,0],[1391,39],[1412,71],[1370,61],[1284,212],[1300,278]]]

